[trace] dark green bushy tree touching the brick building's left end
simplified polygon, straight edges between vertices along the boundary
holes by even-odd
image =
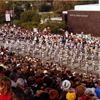
[[[60,29],[66,29],[67,25],[65,22],[59,22],[59,21],[48,21],[44,24],[39,24],[38,29],[43,31],[44,28],[50,27],[50,30],[52,33],[59,33]]]

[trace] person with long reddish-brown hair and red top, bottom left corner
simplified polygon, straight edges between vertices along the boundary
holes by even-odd
[[[10,100],[13,95],[11,83],[7,76],[0,77],[0,100]]]

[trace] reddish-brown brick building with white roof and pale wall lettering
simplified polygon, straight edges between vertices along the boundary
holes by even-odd
[[[66,14],[62,13],[62,20],[67,22],[69,32],[74,34],[84,32],[100,37],[100,2],[76,5],[74,10],[69,10]]]

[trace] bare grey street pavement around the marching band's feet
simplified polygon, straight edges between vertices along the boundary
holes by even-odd
[[[27,45],[27,44],[25,43],[25,45]],[[37,47],[38,45],[35,45],[35,46]],[[5,43],[3,43],[2,37],[0,37],[0,46],[5,46]],[[96,56],[94,57],[94,61],[95,61],[95,68],[94,68],[93,67],[93,61],[92,61],[92,58],[91,58],[91,54],[88,54],[88,65],[86,65],[85,53],[82,53],[83,60],[81,61],[81,65],[80,65],[78,57],[76,57],[74,59],[75,61],[72,62],[72,58],[73,58],[73,56],[75,56],[74,52],[73,52],[73,56],[69,54],[68,63],[67,63],[64,49],[62,49],[62,52],[63,52],[62,53],[62,58],[63,59],[62,59],[62,61],[60,61],[57,58],[57,56],[55,56],[55,58],[53,58],[53,57],[50,58],[49,52],[48,52],[48,54],[46,54],[47,53],[46,48],[44,49],[44,55],[43,55],[43,52],[42,52],[42,54],[40,54],[39,50],[37,50],[37,52],[33,53],[35,48],[34,47],[32,48],[31,46],[32,45],[30,44],[30,48],[31,48],[30,52],[24,52],[24,54],[23,54],[23,51],[22,51],[22,47],[20,47],[20,49],[18,51],[18,54],[22,55],[22,56],[31,56],[31,57],[39,58],[43,62],[53,62],[55,64],[61,64],[61,67],[68,68],[69,70],[72,70],[73,72],[77,72],[77,73],[99,74],[99,61],[98,61]],[[28,48],[26,48],[26,49],[28,49]],[[26,51],[28,51],[28,50],[26,50]],[[54,51],[55,50],[53,50],[53,52]],[[13,50],[12,52],[17,53],[16,50]],[[71,51],[69,51],[69,53],[71,53]],[[54,53],[52,53],[52,54],[54,54]]]

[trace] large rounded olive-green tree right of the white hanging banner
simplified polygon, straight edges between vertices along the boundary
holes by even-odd
[[[33,10],[27,10],[23,12],[20,16],[20,25],[21,27],[32,29],[37,27],[40,23],[40,15]]]

